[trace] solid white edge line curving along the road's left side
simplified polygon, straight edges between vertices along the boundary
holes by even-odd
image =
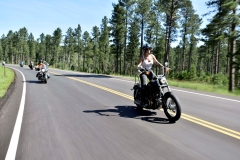
[[[11,67],[9,67],[9,68],[11,68]],[[15,68],[12,68],[12,69],[15,69]],[[25,77],[24,77],[24,75],[21,71],[19,71],[18,69],[15,69],[15,70],[17,70],[18,72],[20,72],[22,74],[22,77],[23,77],[23,91],[22,91],[22,99],[21,99],[19,110],[18,110],[17,119],[16,119],[16,122],[15,122],[15,126],[14,126],[14,129],[13,129],[13,134],[12,134],[12,137],[11,137],[11,141],[10,141],[10,144],[9,144],[9,147],[8,147],[8,151],[7,151],[7,155],[5,157],[5,160],[14,160],[15,157],[16,157],[17,146],[18,146],[21,126],[22,126],[24,105],[25,105],[25,96],[26,96]]]

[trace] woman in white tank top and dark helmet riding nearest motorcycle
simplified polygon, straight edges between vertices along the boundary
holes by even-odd
[[[158,60],[153,54],[151,54],[152,47],[149,44],[146,43],[145,45],[143,45],[142,49],[143,49],[143,54],[139,58],[137,68],[138,68],[138,73],[140,74],[140,79],[141,79],[141,107],[145,107],[144,98],[145,98],[145,89],[147,86],[147,78],[149,80],[153,79],[154,74],[152,72],[150,72],[148,75],[146,75],[145,73],[141,74],[140,69],[142,68],[151,69],[153,63],[155,63],[159,67],[163,67],[163,65],[158,62]]]

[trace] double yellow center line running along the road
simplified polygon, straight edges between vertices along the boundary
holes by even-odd
[[[53,73],[53,74],[56,74],[56,75],[61,75],[61,74],[54,73],[54,72],[50,72],[50,73]],[[118,92],[118,91],[115,91],[115,90],[112,90],[112,89],[109,89],[109,88],[106,88],[106,87],[103,87],[103,86],[100,86],[100,85],[97,85],[97,84],[94,84],[94,83],[90,83],[90,82],[87,82],[87,81],[84,81],[84,80],[81,80],[81,79],[68,77],[68,76],[65,76],[65,77],[67,77],[69,79],[72,79],[72,80],[75,80],[75,81],[85,83],[87,85],[90,85],[90,86],[93,86],[93,87],[96,87],[96,88],[99,88],[99,89],[102,89],[102,90],[105,90],[105,91],[108,91],[108,92],[111,92],[111,93],[114,93],[116,95],[125,97],[127,99],[134,100],[133,96],[130,96],[130,95],[127,95],[127,94],[124,94],[124,93],[121,93],[121,92]],[[199,119],[199,118],[196,118],[196,117],[184,114],[184,113],[182,113],[181,118],[240,140],[240,132],[237,132],[237,131],[234,131],[234,130],[231,130],[231,129],[228,129],[228,128],[225,128],[225,127],[222,127],[222,126],[219,126],[219,125],[216,125],[214,123],[210,123],[208,121],[205,121],[205,120],[202,120],[202,119]]]

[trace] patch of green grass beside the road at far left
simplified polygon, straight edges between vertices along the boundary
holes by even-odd
[[[4,67],[0,66],[0,98],[4,96],[14,80],[14,72],[11,69],[5,68],[5,74],[4,76]]]

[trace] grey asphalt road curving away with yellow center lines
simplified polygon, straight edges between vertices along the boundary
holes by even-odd
[[[240,159],[240,98],[172,87],[182,117],[169,123],[161,110],[136,110],[132,81],[50,69],[44,84],[27,66],[8,66],[26,80],[16,71],[0,111],[0,159],[7,153],[19,160]],[[24,84],[20,135],[11,142]]]

